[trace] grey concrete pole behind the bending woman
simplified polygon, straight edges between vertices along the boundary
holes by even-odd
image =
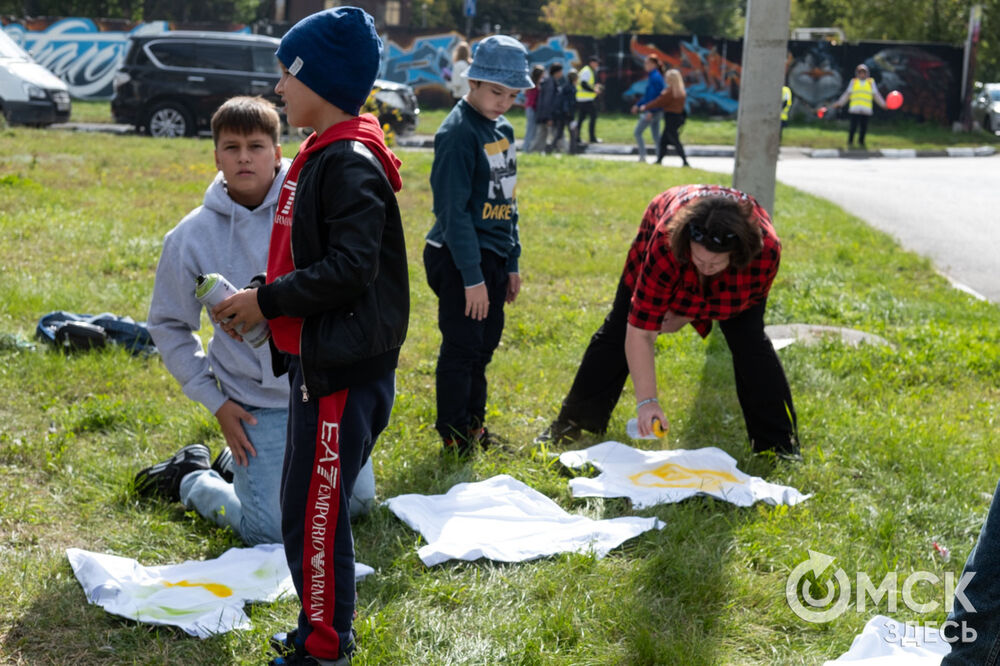
[[[733,187],[774,212],[790,0],[748,0]]]

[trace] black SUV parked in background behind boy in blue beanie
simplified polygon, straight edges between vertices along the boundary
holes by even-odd
[[[234,95],[261,95],[276,105],[280,40],[232,32],[133,35],[114,77],[111,115],[151,136],[193,136],[209,130],[212,114]],[[413,90],[377,79],[379,120],[397,133],[416,128]]]

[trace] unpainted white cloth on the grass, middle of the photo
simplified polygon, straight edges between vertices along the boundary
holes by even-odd
[[[604,557],[632,537],[665,527],[656,518],[573,515],[506,474],[459,483],[444,495],[399,495],[385,503],[427,540],[417,551],[427,566],[481,557],[523,562],[565,552]]]

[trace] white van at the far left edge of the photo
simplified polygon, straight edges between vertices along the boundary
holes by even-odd
[[[69,120],[69,88],[0,30],[0,113],[12,125]]]

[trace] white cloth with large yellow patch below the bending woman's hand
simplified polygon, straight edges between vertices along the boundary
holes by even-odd
[[[590,464],[600,476],[569,482],[573,497],[627,497],[636,509],[710,495],[737,506],[794,505],[809,499],[795,488],[769,483],[736,468],[722,449],[642,451],[621,442],[595,444],[582,451],[565,451],[559,462],[567,467]]]

